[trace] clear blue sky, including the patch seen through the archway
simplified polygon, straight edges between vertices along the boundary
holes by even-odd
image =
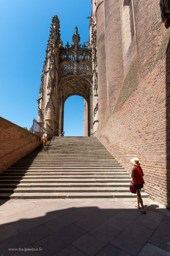
[[[0,0],[0,116],[21,127],[30,128],[33,118],[37,119],[36,99],[55,14],[64,45],[72,43],[76,25],[80,43],[88,41],[86,17],[91,16],[91,0]],[[83,135],[83,110],[82,97],[72,96],[66,101],[66,136]]]

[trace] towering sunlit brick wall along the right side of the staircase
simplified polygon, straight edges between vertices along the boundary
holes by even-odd
[[[120,0],[120,10],[122,4]],[[137,45],[134,55],[124,58],[124,67],[129,61],[129,69],[124,71],[121,16],[115,6],[112,0],[105,1],[106,38],[112,38],[107,40],[107,65],[109,105],[113,108],[96,136],[128,172],[130,158],[138,157],[145,191],[170,203],[170,29],[161,23],[159,1],[134,0]]]

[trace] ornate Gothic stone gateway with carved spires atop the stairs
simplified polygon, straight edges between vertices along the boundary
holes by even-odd
[[[78,28],[73,44],[64,47],[60,39],[59,19],[55,15],[48,40],[38,98],[38,122],[50,126],[55,136],[63,130],[64,102],[73,95],[85,98],[88,136],[95,136],[98,127],[96,30],[92,41],[80,44]],[[87,134],[86,134],[87,135]]]

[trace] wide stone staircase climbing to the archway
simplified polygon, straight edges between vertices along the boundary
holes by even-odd
[[[0,174],[0,198],[136,198],[131,181],[97,138],[53,137]]]

